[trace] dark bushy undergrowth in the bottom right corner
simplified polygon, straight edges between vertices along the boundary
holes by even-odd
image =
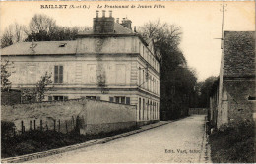
[[[209,137],[214,163],[254,163],[254,122],[224,125]]]

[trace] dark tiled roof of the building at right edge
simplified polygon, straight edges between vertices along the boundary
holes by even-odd
[[[224,77],[255,76],[255,31],[224,31]]]

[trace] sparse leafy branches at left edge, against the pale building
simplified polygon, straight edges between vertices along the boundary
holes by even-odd
[[[10,82],[9,77],[11,72],[8,70],[11,63],[9,60],[1,62],[1,91],[8,91],[11,88],[12,82]]]

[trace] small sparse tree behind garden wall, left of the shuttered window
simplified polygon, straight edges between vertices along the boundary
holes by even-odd
[[[47,87],[50,83],[52,83],[51,74],[46,72],[36,83],[35,88],[23,90],[23,102],[41,102],[44,99],[45,92],[51,89],[51,87]]]

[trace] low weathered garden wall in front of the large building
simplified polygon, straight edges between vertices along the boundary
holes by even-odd
[[[25,130],[30,128],[55,130],[67,133],[77,126],[82,134],[97,134],[136,125],[136,106],[114,104],[94,100],[69,100],[1,106],[1,119],[12,121],[21,133],[22,121]]]

